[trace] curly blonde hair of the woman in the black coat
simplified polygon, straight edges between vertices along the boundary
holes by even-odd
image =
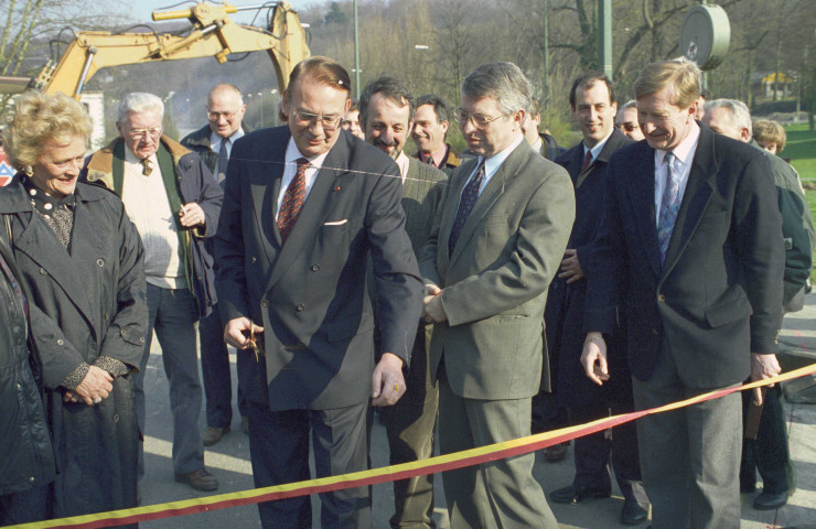
[[[93,130],[85,107],[64,94],[22,94],[4,121],[3,149],[17,170],[34,165],[49,140],[64,142],[78,137],[87,143]]]

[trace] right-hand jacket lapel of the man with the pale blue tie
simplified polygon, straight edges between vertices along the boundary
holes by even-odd
[[[686,183],[686,191],[683,194],[675,228],[668,241],[663,276],[666,276],[672,270],[672,267],[674,267],[677,259],[683,255],[683,250],[688,246],[688,241],[702,217],[702,212],[706,210],[706,205],[708,205],[708,201],[711,198],[713,179],[716,179],[717,172],[717,160],[713,153],[713,132],[705,127],[700,127],[700,138],[691,161],[691,171]]]

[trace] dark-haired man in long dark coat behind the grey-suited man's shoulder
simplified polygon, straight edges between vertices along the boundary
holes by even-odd
[[[556,395],[567,407],[571,424],[581,424],[634,409],[632,381],[626,366],[620,330],[610,339],[613,377],[609,385],[593,385],[581,367],[583,311],[587,295],[586,272],[592,238],[603,210],[603,185],[609,159],[618,149],[632,143],[614,128],[614,89],[600,72],[581,75],[569,93],[572,115],[583,141],[565,152],[557,162],[563,165],[576,187],[576,223],[567,244],[558,278],[552,280],[544,312],[547,345],[551,360],[558,363]],[[549,497],[560,504],[587,498],[608,498],[612,493],[610,462],[624,497],[621,521],[636,525],[646,519],[641,503],[647,501],[641,484],[637,460],[637,432],[630,422],[616,427],[610,438],[598,432],[575,441],[576,476],[572,484],[554,490]]]

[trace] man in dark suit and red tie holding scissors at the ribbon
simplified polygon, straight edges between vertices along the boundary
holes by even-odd
[[[225,339],[240,349],[258,487],[309,479],[310,434],[319,477],[366,469],[369,399],[390,406],[405,392],[422,284],[396,164],[340,128],[350,87],[330,58],[298,64],[283,94],[288,128],[237,141],[227,170],[218,293]],[[367,487],[322,494],[321,503],[321,527],[371,527]],[[259,510],[264,527],[311,527],[308,496]]]

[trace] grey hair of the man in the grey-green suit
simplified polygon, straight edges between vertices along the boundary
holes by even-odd
[[[505,116],[529,112],[533,87],[522,68],[513,63],[490,63],[477,67],[462,82],[462,95],[493,97]]]

